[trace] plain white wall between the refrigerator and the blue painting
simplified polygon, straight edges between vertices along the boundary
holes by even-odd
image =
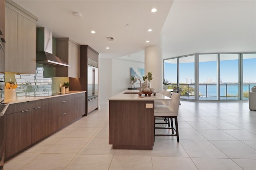
[[[99,64],[100,105],[108,98],[131,87],[131,67],[144,68],[144,63],[126,59],[101,59]]]

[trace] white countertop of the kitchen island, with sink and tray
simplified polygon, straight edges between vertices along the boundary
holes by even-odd
[[[138,94],[132,94],[139,92],[139,90],[125,90],[117,95],[110,97],[108,100],[124,100],[124,101],[156,101],[156,100],[172,100],[170,97],[162,95],[161,93],[156,93],[154,96],[151,94],[150,97],[139,97]],[[125,94],[126,93],[126,94]],[[128,93],[128,94],[127,94]]]

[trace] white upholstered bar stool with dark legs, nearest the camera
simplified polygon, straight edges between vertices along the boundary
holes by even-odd
[[[170,101],[169,106],[166,105],[155,105],[154,106],[154,117],[155,117],[155,130],[158,128],[161,129],[172,129],[172,134],[154,134],[154,136],[177,136],[177,142],[179,140],[179,131],[178,131],[178,111],[180,103],[180,94],[172,93],[172,100]],[[171,121],[171,127],[156,127],[156,118],[165,117]],[[173,119],[175,121],[175,128],[173,127]],[[174,130],[176,134],[174,134]]]

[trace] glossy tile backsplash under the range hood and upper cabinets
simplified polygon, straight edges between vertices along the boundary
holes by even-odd
[[[5,82],[18,85],[17,96],[58,93],[60,83],[68,82],[68,77],[44,77],[44,67],[36,67],[36,74],[14,74],[5,72]]]

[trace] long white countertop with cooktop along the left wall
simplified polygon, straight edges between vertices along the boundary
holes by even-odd
[[[69,93],[60,93],[60,95],[54,95],[54,96],[20,96],[16,97],[16,99],[4,99],[1,98],[1,101],[4,99],[2,103],[9,103],[9,104],[14,104],[14,103],[22,103],[26,101],[34,101],[34,100],[40,100],[40,99],[48,99],[52,97],[60,97],[63,95],[73,95],[76,93],[84,93],[86,91],[69,91]]]

